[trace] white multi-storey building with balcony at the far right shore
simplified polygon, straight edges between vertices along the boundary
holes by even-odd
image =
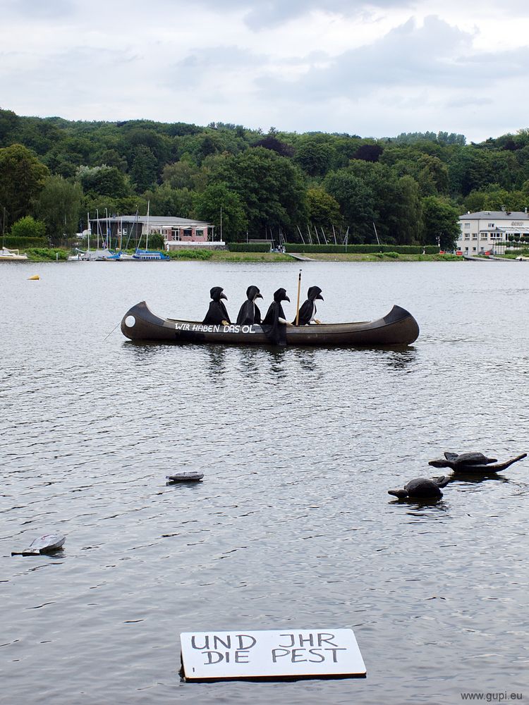
[[[502,252],[509,240],[529,238],[529,215],[521,211],[478,211],[459,216],[461,234],[457,249],[463,255],[478,255],[480,252]],[[509,238],[513,235],[513,238]]]

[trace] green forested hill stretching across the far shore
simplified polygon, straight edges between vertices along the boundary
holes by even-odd
[[[227,240],[298,228],[372,242],[449,247],[463,212],[529,204],[529,129],[481,144],[463,135],[267,134],[241,125],[67,121],[0,109],[0,214],[47,236],[85,227],[86,212],[192,217]],[[5,209],[5,211],[4,211]]]

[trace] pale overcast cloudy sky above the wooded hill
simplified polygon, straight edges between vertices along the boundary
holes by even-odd
[[[529,127],[527,0],[0,0],[0,107],[363,137]]]

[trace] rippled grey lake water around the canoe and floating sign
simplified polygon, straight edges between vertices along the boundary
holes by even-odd
[[[147,300],[296,299],[296,263],[0,264],[0,702],[401,705],[529,697],[529,263],[303,263],[323,321],[396,303],[406,350],[138,345]],[[28,281],[39,274],[40,281]],[[294,307],[286,307],[293,317]],[[109,333],[111,333],[109,335]],[[204,481],[167,486],[174,470]],[[56,556],[11,557],[66,534]],[[353,627],[367,678],[182,682],[181,632]]]

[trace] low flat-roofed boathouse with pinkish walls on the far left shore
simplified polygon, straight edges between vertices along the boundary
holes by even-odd
[[[135,247],[140,237],[159,234],[166,250],[178,247],[222,248],[226,245],[215,233],[212,223],[176,216],[109,216],[90,219],[92,238],[99,236],[108,246],[126,250]],[[107,239],[108,238],[108,239]],[[144,240],[145,242],[145,240]]]

